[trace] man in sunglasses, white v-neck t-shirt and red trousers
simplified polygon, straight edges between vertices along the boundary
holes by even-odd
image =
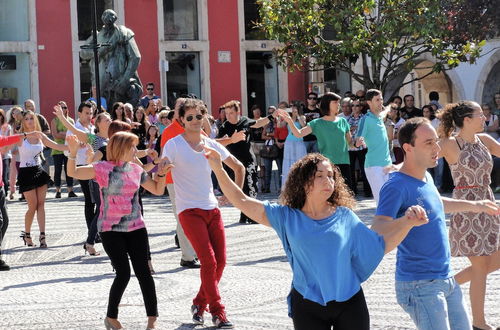
[[[201,287],[191,307],[193,322],[203,324],[203,312],[208,305],[214,325],[229,329],[233,324],[226,317],[218,289],[226,265],[224,223],[213,192],[204,146],[221,154],[223,162],[234,171],[235,182],[240,187],[245,168],[220,143],[201,133],[205,113],[202,102],[186,100],[179,108],[179,120],[185,131],[167,142],[163,157],[174,164],[172,177],[179,221],[201,262]]]

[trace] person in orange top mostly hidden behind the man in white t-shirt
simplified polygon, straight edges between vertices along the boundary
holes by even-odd
[[[186,101],[185,98],[178,98],[175,102],[174,117],[172,118],[172,124],[163,130],[161,134],[160,145],[161,149],[168,142],[168,140],[184,133],[184,127],[179,122],[179,107],[184,105]],[[159,153],[161,154],[161,152]],[[196,258],[196,253],[194,252],[193,246],[184,234],[184,230],[179,222],[179,217],[177,216],[176,206],[175,206],[175,191],[174,191],[174,180],[172,180],[171,172],[167,173],[166,184],[168,190],[168,196],[172,202],[172,209],[174,211],[175,220],[177,221],[177,238],[179,240],[179,246],[181,248],[181,266],[186,268],[200,268],[200,263]]]

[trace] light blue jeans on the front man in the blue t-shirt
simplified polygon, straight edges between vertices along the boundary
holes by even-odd
[[[453,277],[396,281],[398,304],[419,330],[470,330],[462,290]]]

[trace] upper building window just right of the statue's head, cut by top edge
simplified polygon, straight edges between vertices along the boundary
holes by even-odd
[[[197,0],[163,0],[165,40],[198,40]]]

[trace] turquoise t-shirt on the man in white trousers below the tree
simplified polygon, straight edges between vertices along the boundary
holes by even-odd
[[[358,126],[358,137],[365,139],[368,152],[365,157],[365,168],[372,166],[388,166],[392,164],[389,153],[389,139],[382,117],[368,111]]]

